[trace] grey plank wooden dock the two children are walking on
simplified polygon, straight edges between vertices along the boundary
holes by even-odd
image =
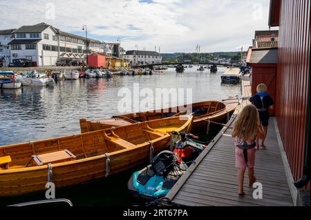
[[[229,128],[223,130],[191,165],[167,198],[182,206],[293,206],[288,180],[281,157],[281,148],[276,137],[275,119],[270,119],[266,149],[256,152],[255,176],[263,186],[263,199],[254,199],[255,189],[248,187],[247,171],[243,197],[238,197],[237,169],[235,168],[234,139],[231,137],[236,115],[249,102],[250,78],[243,77],[243,101],[232,119]]]

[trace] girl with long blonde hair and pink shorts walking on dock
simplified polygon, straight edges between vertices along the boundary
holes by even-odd
[[[232,137],[235,138],[236,168],[238,168],[238,194],[244,194],[243,182],[248,168],[249,187],[256,182],[254,177],[256,138],[263,137],[259,114],[255,106],[248,105],[238,115],[234,123]]]

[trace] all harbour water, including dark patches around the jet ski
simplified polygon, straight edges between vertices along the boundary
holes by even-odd
[[[222,85],[217,73],[185,68],[184,73],[175,69],[155,72],[153,75],[114,76],[111,79],[79,79],[59,81],[55,86],[23,87],[19,90],[0,90],[0,146],[39,139],[50,139],[80,132],[79,119],[103,119],[118,111],[118,97],[122,88],[133,90],[133,83],[140,89],[191,88],[192,101],[222,100],[241,94],[239,85]],[[144,97],[140,98],[144,99]],[[169,100],[171,102],[171,99]],[[204,141],[213,139],[217,130]],[[56,190],[57,198],[73,201],[75,206],[133,206],[144,201],[127,192],[127,181],[135,170],[126,171],[93,183],[80,184]],[[19,197],[0,198],[1,205],[45,199],[44,192]]]

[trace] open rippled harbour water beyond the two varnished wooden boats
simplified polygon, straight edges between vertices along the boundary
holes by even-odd
[[[0,90],[0,146],[23,141],[48,139],[79,132],[79,119],[101,119],[117,112],[120,88],[192,88],[193,101],[226,99],[239,94],[239,86],[221,85],[220,75],[209,70],[174,69],[147,76],[115,76],[111,79],[58,81],[52,87],[24,87]],[[143,99],[143,97],[141,98]]]

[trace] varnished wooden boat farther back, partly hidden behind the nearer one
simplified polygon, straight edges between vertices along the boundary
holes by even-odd
[[[194,114],[194,123],[191,132],[206,132],[208,120],[216,123],[226,123],[238,106],[238,98],[229,98],[224,101],[204,101],[192,104],[192,112]],[[183,107],[183,106],[182,106]],[[81,132],[90,132],[111,127],[128,126],[133,123],[149,121],[154,119],[164,119],[180,114],[178,108],[166,108],[162,110],[154,110],[153,112],[139,112],[134,114],[122,114],[113,116],[111,119],[101,119],[96,121],[86,121],[80,119]],[[177,110],[177,111],[176,111]],[[216,123],[209,123],[209,126],[215,126]]]

